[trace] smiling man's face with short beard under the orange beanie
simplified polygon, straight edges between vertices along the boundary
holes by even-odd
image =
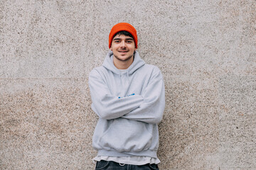
[[[129,36],[116,35],[112,40],[110,50],[113,51],[114,57],[119,61],[133,61],[134,51],[136,50],[135,42]]]

